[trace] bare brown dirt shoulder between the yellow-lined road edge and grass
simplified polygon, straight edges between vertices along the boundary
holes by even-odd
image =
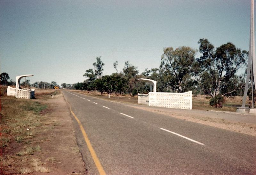
[[[73,121],[63,95],[54,96],[53,99],[47,100],[46,104],[47,110],[50,110],[47,117],[50,117],[55,125],[41,135],[47,140],[41,143],[42,150],[46,150],[41,155],[42,159],[53,157],[55,160],[48,165],[51,169],[49,174],[85,174],[85,164],[77,146]]]

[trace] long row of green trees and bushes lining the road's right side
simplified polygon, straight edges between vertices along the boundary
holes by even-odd
[[[227,98],[243,96],[248,52],[231,42],[215,47],[206,38],[199,39],[198,46],[198,49],[189,46],[176,49],[166,47],[159,67],[146,68],[141,74],[129,61],[124,63],[120,71],[118,62],[115,61],[113,67],[116,72],[103,76],[105,63],[101,61],[101,57],[97,57],[92,64],[93,68],[85,71],[84,82],[73,84],[72,88],[64,85],[66,89],[98,91],[102,95],[107,93],[108,96],[136,96],[150,91],[147,83],[138,80],[148,78],[157,81],[158,92],[192,91],[194,96],[210,97],[208,106],[215,108],[225,106]],[[249,90],[248,96],[251,98],[250,93]]]

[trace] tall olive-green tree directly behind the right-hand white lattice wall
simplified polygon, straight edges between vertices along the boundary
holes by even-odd
[[[184,81],[192,76],[196,50],[191,47],[182,46],[177,49],[164,48],[160,69],[171,74],[171,87],[175,91],[183,92]]]

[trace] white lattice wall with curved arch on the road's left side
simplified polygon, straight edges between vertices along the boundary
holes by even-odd
[[[16,88],[12,88],[8,86],[7,96],[15,96],[17,99],[32,99],[35,97],[35,89],[22,89],[20,87],[21,78],[26,76],[33,76],[33,75],[16,76]]]

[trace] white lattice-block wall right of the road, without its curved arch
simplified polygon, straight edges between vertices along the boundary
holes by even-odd
[[[148,104],[141,97],[143,95],[149,96]],[[144,102],[141,102],[142,100]],[[148,94],[138,94],[138,103],[156,107],[192,109],[192,91],[183,93],[149,92]]]

